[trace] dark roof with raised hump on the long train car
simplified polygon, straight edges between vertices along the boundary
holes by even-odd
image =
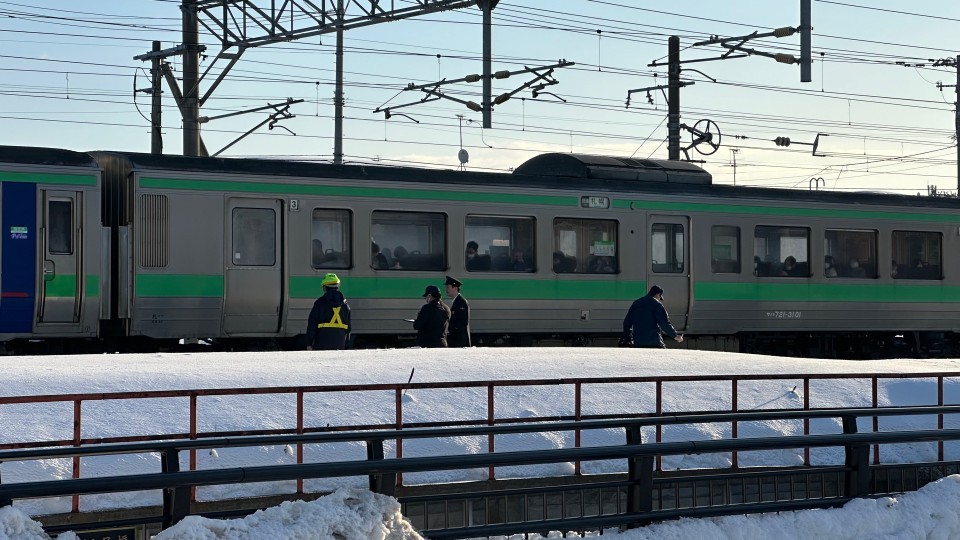
[[[453,186],[504,186],[531,189],[580,190],[584,194],[620,192],[637,197],[662,195],[696,195],[730,199],[730,203],[747,201],[791,201],[798,204],[862,204],[913,208],[960,209],[960,199],[952,197],[918,197],[884,193],[846,193],[796,189],[730,186],[710,183],[710,174],[687,162],[666,160],[630,160],[586,154],[543,154],[521,164],[513,174],[497,172],[422,169],[380,165],[332,165],[307,161],[254,158],[201,158],[128,152],[92,152],[98,161],[104,157],[122,160],[125,167],[138,169],[170,169],[224,174],[296,176],[317,179],[362,179],[371,181],[418,182]],[[638,181],[639,176],[654,181]],[[700,180],[690,180],[695,177]],[[659,178],[659,180],[656,180]],[[707,178],[707,180],[703,180]],[[960,215],[958,215],[960,221]]]

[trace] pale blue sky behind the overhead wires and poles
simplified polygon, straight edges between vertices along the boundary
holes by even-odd
[[[42,5],[38,5],[42,4]],[[269,5],[267,2],[262,3]],[[397,6],[412,2],[396,0]],[[493,70],[536,69],[561,59],[575,65],[552,73],[558,84],[534,98],[516,93],[497,106],[493,125],[452,100],[417,103],[410,83],[434,83],[480,73],[478,9],[376,24],[345,37],[344,160],[454,169],[469,153],[470,170],[509,171],[545,152],[666,158],[666,100],[629,90],[665,83],[667,38],[681,39],[681,60],[717,58],[718,45],[694,46],[712,35],[746,36],[799,25],[799,0],[693,0],[682,7],[626,0],[502,0],[494,9]],[[348,2],[359,15],[368,0]],[[72,150],[150,149],[149,63],[133,60],[153,40],[181,40],[179,2],[128,0],[0,1],[0,144]],[[715,182],[844,191],[956,191],[957,148],[950,38],[960,30],[960,3],[943,0],[813,0],[813,81],[797,65],[761,56],[685,64],[681,121],[712,121],[716,152],[691,159]],[[201,27],[212,77],[219,41]],[[333,154],[334,45],[332,35],[247,50],[204,104],[202,115],[230,114],[287,98],[302,99],[274,129],[262,127],[224,156],[329,162]],[[799,54],[799,35],[752,40],[744,46]],[[181,61],[171,60],[180,76]],[[698,71],[695,71],[698,70]],[[532,76],[494,83],[511,92]],[[714,82],[716,81],[716,82]],[[479,100],[480,84],[451,84],[446,95]],[[182,151],[178,113],[164,89],[165,152]],[[396,107],[389,120],[384,107]],[[406,116],[401,116],[400,113]],[[211,152],[225,148],[266,119],[263,112],[203,124]],[[703,124],[700,124],[703,125]],[[283,126],[282,128],[280,126]],[[774,139],[812,147],[777,146]],[[683,146],[691,137],[684,134]],[[700,147],[702,148],[702,147]],[[736,166],[734,166],[734,163]],[[818,180],[822,179],[822,180]]]

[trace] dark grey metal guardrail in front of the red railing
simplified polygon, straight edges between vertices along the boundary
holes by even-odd
[[[862,409],[821,409],[795,411],[753,411],[740,413],[684,414],[650,418],[616,420],[585,420],[540,422],[536,424],[504,424],[494,426],[422,427],[412,429],[371,430],[367,432],[328,432],[303,435],[257,435],[218,437],[197,440],[149,441],[128,443],[83,444],[69,448],[21,448],[0,451],[0,462],[40,460],[55,458],[80,459],[94,455],[125,455],[159,453],[161,471],[155,473],[105,476],[67,480],[45,480],[22,483],[0,483],[0,506],[12,504],[13,500],[38,497],[79,496],[99,493],[123,493],[159,489],[163,490],[162,515],[157,521],[170,526],[189,515],[191,490],[198,486],[243,484],[251,482],[302,480],[363,475],[369,478],[370,489],[379,493],[394,494],[396,476],[410,472],[473,469],[477,467],[521,466],[544,463],[568,463],[588,460],[627,460],[626,505],[622,512],[611,515],[580,516],[576,518],[523,520],[513,523],[466,525],[429,529],[433,539],[462,538],[494,534],[518,534],[546,530],[584,530],[609,526],[636,526],[653,520],[679,516],[703,516],[743,514],[774,510],[829,507],[842,504],[851,498],[869,496],[870,477],[877,465],[870,464],[870,447],[879,444],[942,442],[960,440],[960,429],[933,429],[857,433],[860,417],[886,417],[896,415],[943,415],[960,413],[960,405],[940,407],[887,407]],[[730,438],[703,441],[674,441],[644,443],[641,428],[677,424],[700,424],[716,422],[756,422],[782,419],[810,420],[837,418],[843,432],[820,435],[792,435],[778,437]],[[456,436],[489,436],[513,433],[563,432],[588,429],[623,429],[624,444],[555,448],[547,450],[523,450],[512,452],[489,452],[469,455],[434,455],[426,457],[385,458],[384,441],[423,438],[448,438]],[[234,467],[216,470],[181,471],[179,456],[184,451],[209,448],[237,448],[270,446],[280,444],[328,444],[344,441],[364,441],[367,460],[338,461],[325,463],[297,463],[253,467]],[[772,502],[740,502],[684,508],[654,508],[653,496],[657,483],[675,481],[655,478],[656,458],[673,455],[757,451],[790,448],[842,447],[845,453],[843,465],[833,467],[778,467],[776,474],[796,475],[827,471],[838,475],[841,489],[832,496],[814,499],[794,499]],[[754,472],[742,470],[737,473],[701,476],[703,481],[718,479],[731,474],[745,478],[749,475],[773,474],[771,471]],[[570,478],[576,478],[571,476]],[[569,487],[571,483],[562,486]],[[554,488],[558,489],[558,488]],[[495,491],[493,493],[496,493]],[[485,495],[490,495],[487,491]],[[473,494],[477,496],[478,494]],[[471,496],[471,495],[459,495]],[[679,505],[678,505],[679,506]],[[103,526],[104,523],[98,525]]]

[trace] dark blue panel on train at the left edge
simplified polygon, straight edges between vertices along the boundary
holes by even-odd
[[[30,332],[37,296],[37,185],[4,182],[0,189],[0,333]]]

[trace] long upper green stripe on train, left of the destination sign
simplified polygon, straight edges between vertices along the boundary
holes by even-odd
[[[140,187],[151,189],[182,189],[192,191],[269,193],[274,195],[320,195],[325,197],[370,197],[380,199],[544,204],[550,206],[571,207],[580,205],[580,199],[578,197],[569,195],[520,195],[511,193],[480,193],[472,191],[440,191],[432,189],[390,189],[317,184],[282,184],[277,182],[232,182],[221,180],[179,180],[170,178],[141,177]]]

